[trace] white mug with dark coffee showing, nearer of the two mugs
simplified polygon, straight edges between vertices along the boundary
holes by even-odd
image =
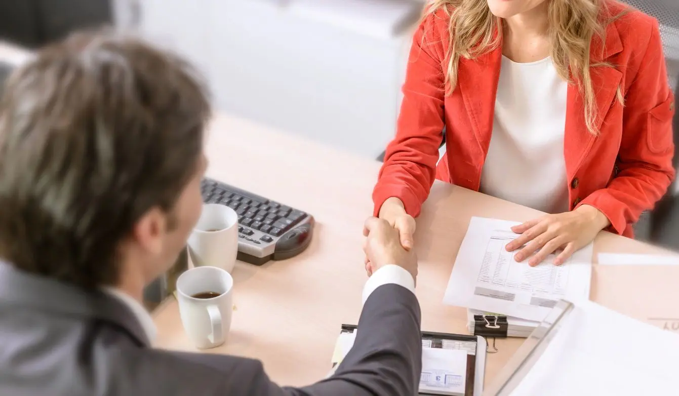
[[[223,344],[231,328],[234,278],[217,267],[196,267],[177,279],[179,316],[197,348]],[[208,297],[207,294],[214,295]]]

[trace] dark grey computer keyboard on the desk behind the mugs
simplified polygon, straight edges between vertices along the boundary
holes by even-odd
[[[240,188],[203,179],[203,202],[229,206],[238,215],[238,259],[261,266],[298,255],[309,246],[314,217]]]

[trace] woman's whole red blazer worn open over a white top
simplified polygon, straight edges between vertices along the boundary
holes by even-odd
[[[619,3],[609,5],[612,14],[623,10]],[[479,190],[502,49],[474,60],[462,58],[458,85],[445,96],[447,24],[439,10],[415,33],[397,135],[386,149],[373,191],[374,215],[384,200],[397,197],[407,213],[417,216],[435,178]],[[594,206],[610,220],[610,231],[631,236],[631,225],[665,194],[675,173],[674,98],[657,21],[629,12],[608,25],[603,41],[594,38],[591,48],[592,62],[606,60],[617,67],[592,69],[600,130],[596,137],[585,126],[579,88],[568,88],[564,157],[570,210]],[[616,99],[619,86],[624,107]],[[437,165],[444,126],[446,154]]]

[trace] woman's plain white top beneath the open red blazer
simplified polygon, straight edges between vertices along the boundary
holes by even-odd
[[[567,92],[551,58],[517,63],[502,56],[481,192],[547,213],[568,211]]]

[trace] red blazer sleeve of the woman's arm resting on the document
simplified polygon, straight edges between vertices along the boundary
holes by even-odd
[[[674,179],[673,113],[674,95],[654,20],[646,53],[625,96],[617,176],[580,203],[604,213],[618,234],[636,223],[643,211],[652,209]]]

